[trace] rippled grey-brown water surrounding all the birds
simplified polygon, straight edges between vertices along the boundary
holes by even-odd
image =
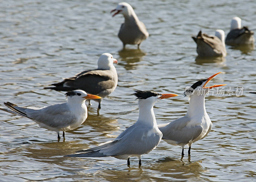
[[[111,17],[116,1],[1,1],[0,6],[0,95],[2,102],[43,107],[64,102],[65,92],[44,90],[45,86],[77,72],[97,67],[98,57],[109,52],[119,61],[116,90],[88,108],[83,125],[66,132],[57,142],[55,132],[39,128],[33,121],[1,111],[0,181],[253,181],[256,158],[256,53],[227,47],[225,59],[196,58],[191,35],[202,30],[227,34],[234,16],[242,26],[255,30],[254,0],[248,1],[129,1],[150,34],[141,49],[128,45],[122,50],[117,33],[124,21]],[[82,148],[113,140],[138,118],[133,89],[175,93],[155,105],[159,124],[186,114],[186,86],[222,72],[212,84],[244,88],[241,96],[206,96],[206,110],[213,127],[209,135],[181,148],[161,141],[138,159],[114,157],[68,158]],[[1,104],[1,107],[4,107]]]

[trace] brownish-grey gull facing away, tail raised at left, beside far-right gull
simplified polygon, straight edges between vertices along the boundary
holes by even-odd
[[[196,52],[201,57],[226,57],[227,50],[225,46],[225,33],[223,30],[217,29],[215,36],[209,36],[199,31],[197,36],[192,36],[197,44]]]

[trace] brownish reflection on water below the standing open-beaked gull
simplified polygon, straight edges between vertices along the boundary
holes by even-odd
[[[146,56],[146,53],[141,49],[122,49],[118,51],[118,54],[121,58],[121,62],[118,64],[124,66],[126,70],[136,69],[137,62]]]

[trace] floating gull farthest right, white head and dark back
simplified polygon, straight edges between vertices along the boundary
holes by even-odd
[[[234,17],[231,20],[230,32],[226,38],[226,44],[231,46],[254,44],[254,32],[248,27],[241,28],[241,19]]]

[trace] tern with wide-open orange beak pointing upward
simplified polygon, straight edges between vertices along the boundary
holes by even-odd
[[[178,118],[171,123],[158,125],[159,130],[163,133],[162,139],[164,141],[168,144],[179,145],[182,147],[182,157],[184,156],[185,145],[188,144],[188,155],[190,155],[192,143],[206,137],[212,129],[211,119],[205,110],[204,98],[211,88],[224,85],[214,85],[211,87],[205,86],[219,73],[216,73],[205,80],[199,80],[186,89],[183,95],[187,95],[190,101],[185,116]]]

